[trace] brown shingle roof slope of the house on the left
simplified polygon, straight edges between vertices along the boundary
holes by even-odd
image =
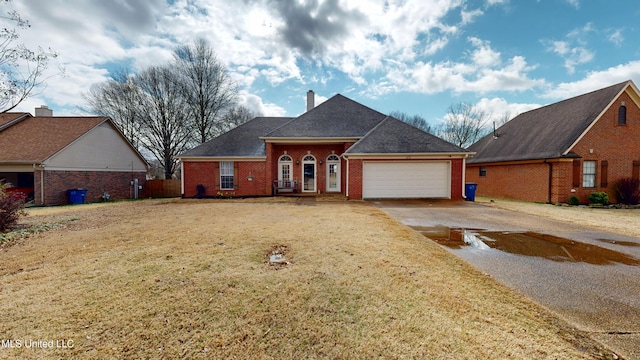
[[[27,117],[0,131],[0,162],[41,163],[106,117]]]

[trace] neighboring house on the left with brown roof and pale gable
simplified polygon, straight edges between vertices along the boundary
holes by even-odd
[[[0,179],[32,193],[36,205],[66,204],[67,190],[78,188],[87,202],[133,198],[147,167],[109,118],[53,116],[46,107],[35,117],[0,116]]]

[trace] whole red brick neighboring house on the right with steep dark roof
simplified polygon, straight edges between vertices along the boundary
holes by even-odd
[[[632,81],[531,110],[469,147],[467,181],[481,196],[588,203],[612,185],[638,178],[640,96]]]

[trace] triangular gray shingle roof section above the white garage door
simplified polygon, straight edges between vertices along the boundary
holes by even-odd
[[[424,132],[396,118],[387,117],[345,153],[422,154],[466,152],[468,151],[437,136]]]

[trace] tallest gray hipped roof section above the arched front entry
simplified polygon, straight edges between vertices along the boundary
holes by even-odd
[[[264,137],[362,137],[385,117],[338,94]]]

